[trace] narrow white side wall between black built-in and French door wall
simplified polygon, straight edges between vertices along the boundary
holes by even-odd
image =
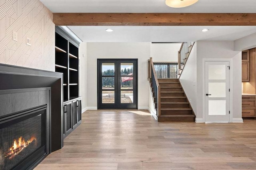
[[[82,96],[82,112],[87,108],[87,43],[82,42],[79,46],[79,89]]]

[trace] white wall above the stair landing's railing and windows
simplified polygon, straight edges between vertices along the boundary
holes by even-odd
[[[151,43],[150,55],[154,62],[178,62],[181,43]]]

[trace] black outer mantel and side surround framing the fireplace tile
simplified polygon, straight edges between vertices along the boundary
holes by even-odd
[[[63,147],[63,73],[0,64],[0,90],[50,87],[50,152]],[[43,159],[43,158],[42,158]],[[40,162],[40,161],[39,161]]]

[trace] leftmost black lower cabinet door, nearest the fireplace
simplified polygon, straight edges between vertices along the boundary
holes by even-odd
[[[64,105],[63,134],[66,136],[72,130],[72,102]]]

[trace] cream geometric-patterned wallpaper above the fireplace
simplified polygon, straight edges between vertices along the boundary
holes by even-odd
[[[0,63],[55,71],[54,44],[52,12],[42,2],[0,0]]]

